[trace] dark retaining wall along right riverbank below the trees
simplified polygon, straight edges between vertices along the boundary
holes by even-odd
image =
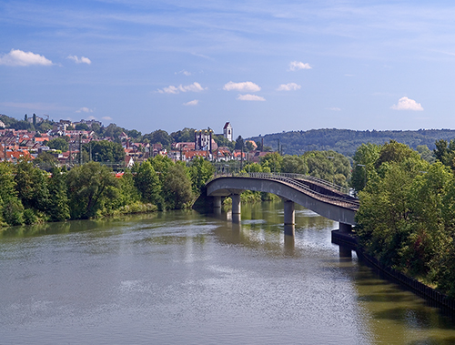
[[[358,240],[354,234],[343,233],[339,230],[332,230],[332,243],[355,250],[360,259],[367,262],[369,266],[379,269],[379,271],[384,273],[387,277],[389,277],[389,279],[398,282],[400,285],[405,286],[425,299],[430,299],[431,301],[436,302],[439,307],[455,311],[454,299],[450,299],[447,295],[440,293],[436,289],[430,288],[428,285],[421,283],[419,280],[410,278],[409,276],[399,272],[399,270],[390,269],[389,267],[381,264],[378,259],[371,257],[363,249],[359,248]]]

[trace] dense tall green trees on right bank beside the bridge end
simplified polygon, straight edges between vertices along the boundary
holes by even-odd
[[[455,141],[435,147],[433,163],[393,140],[358,148],[356,231],[380,262],[455,298]]]

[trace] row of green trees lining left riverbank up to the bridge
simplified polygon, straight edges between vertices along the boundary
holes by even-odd
[[[189,166],[157,156],[126,169],[88,162],[47,173],[27,159],[0,163],[0,225],[86,219],[123,213],[186,208],[214,167],[203,158]]]

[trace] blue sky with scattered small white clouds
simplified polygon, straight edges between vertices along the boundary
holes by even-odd
[[[0,0],[0,113],[237,137],[455,128],[451,1]]]

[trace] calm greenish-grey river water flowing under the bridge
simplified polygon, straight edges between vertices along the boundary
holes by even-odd
[[[455,320],[283,205],[0,232],[0,344],[452,344]]]

